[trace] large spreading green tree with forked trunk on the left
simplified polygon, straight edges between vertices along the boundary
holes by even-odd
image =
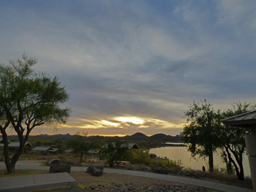
[[[57,77],[35,73],[37,59],[24,53],[9,65],[0,64],[0,133],[3,136],[4,158],[8,173],[15,172],[15,164],[33,128],[52,123],[65,123],[70,108],[61,108],[69,99]],[[11,127],[18,135],[20,146],[9,158],[8,135]]]

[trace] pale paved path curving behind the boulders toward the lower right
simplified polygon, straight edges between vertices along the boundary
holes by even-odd
[[[40,170],[49,170],[49,166],[39,166],[41,163],[25,163],[25,162],[17,162],[15,169],[40,169]],[[4,163],[0,163],[0,169],[6,169]],[[71,167],[71,171],[86,171],[87,167]],[[168,180],[174,181],[179,183],[186,183],[196,186],[202,186],[209,189],[216,189],[224,192],[253,192],[252,189],[241,188],[238,186],[226,185],[222,183],[207,181],[207,180],[199,180],[193,179],[188,177],[178,177],[173,175],[162,175],[150,172],[138,172],[138,171],[131,171],[125,169],[110,169],[104,168],[104,172],[106,173],[117,173],[123,175],[134,175],[140,177],[150,177],[154,179],[160,180]]]

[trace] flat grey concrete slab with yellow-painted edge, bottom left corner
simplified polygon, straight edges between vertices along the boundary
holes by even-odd
[[[64,186],[76,186],[76,180],[66,172],[0,177],[0,192],[31,191]]]

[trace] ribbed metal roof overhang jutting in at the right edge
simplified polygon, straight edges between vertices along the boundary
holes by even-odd
[[[222,119],[221,122],[230,126],[255,127],[256,110]]]

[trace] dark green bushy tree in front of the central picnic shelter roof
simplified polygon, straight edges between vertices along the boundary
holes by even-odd
[[[119,140],[109,142],[107,143],[107,147],[103,149],[102,155],[108,159],[109,166],[113,167],[114,161],[128,160],[128,145],[126,142]]]

